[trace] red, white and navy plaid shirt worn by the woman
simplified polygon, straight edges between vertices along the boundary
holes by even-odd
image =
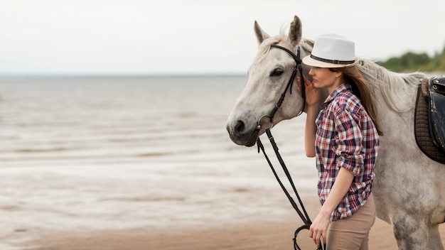
[[[374,123],[350,85],[338,86],[316,119],[318,197],[326,201],[341,167],[353,173],[353,183],[331,215],[331,221],[350,217],[371,193],[379,137]]]

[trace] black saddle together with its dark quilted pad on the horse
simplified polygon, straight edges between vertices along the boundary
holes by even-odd
[[[424,79],[417,90],[414,113],[417,146],[434,161],[445,164],[445,77]]]

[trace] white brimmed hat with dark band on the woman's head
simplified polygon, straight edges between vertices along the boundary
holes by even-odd
[[[311,55],[303,58],[304,64],[313,67],[347,67],[357,61],[354,42],[336,34],[316,38]]]

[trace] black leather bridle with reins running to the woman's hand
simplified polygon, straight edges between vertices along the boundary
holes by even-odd
[[[303,107],[301,108],[301,111],[299,114],[297,114],[297,116],[299,116],[300,114],[302,114],[304,112],[305,103],[306,103],[306,92],[305,92],[306,89],[305,89],[305,85],[304,85],[303,69],[301,68],[302,61],[300,59],[300,47],[298,47],[296,55],[291,50],[288,50],[287,48],[284,48],[280,45],[273,44],[273,45],[271,45],[271,47],[279,48],[280,50],[286,51],[286,53],[288,53],[289,55],[291,55],[292,58],[294,58],[296,65],[294,67],[294,70],[292,71],[291,78],[289,79],[289,82],[287,82],[286,88],[284,89],[284,92],[282,93],[282,96],[279,98],[279,100],[277,102],[277,105],[275,105],[274,109],[272,109],[272,112],[269,115],[264,115],[259,118],[257,129],[261,129],[261,119],[263,117],[269,116],[269,119],[270,119],[270,122],[272,125],[269,129],[266,129],[267,137],[269,138],[269,141],[272,144],[272,147],[274,148],[275,155],[277,156],[280,165],[282,165],[284,173],[286,174],[286,177],[289,180],[289,183],[291,184],[291,187],[295,192],[296,198],[299,200],[299,205],[301,207],[301,210],[300,210],[299,206],[296,205],[296,202],[291,197],[291,195],[289,195],[289,192],[284,187],[282,181],[279,179],[279,176],[277,175],[277,172],[275,171],[274,166],[272,165],[271,161],[269,160],[269,157],[267,157],[267,154],[264,151],[264,146],[263,146],[261,140],[259,139],[259,137],[257,138],[258,153],[260,150],[263,152],[264,157],[266,158],[267,163],[269,163],[269,166],[272,169],[272,172],[274,173],[275,178],[277,178],[279,185],[282,187],[284,194],[289,199],[289,202],[291,202],[291,205],[292,205],[292,207],[294,207],[294,210],[299,214],[299,217],[301,218],[301,220],[304,222],[303,226],[296,229],[295,234],[294,234],[294,239],[293,239],[294,240],[294,249],[301,250],[299,245],[296,243],[296,237],[301,230],[303,230],[303,229],[309,230],[309,227],[311,227],[312,222],[311,222],[311,219],[309,218],[309,215],[306,212],[306,209],[304,208],[303,202],[301,202],[301,198],[300,198],[298,192],[296,191],[294,182],[292,181],[291,175],[289,174],[289,170],[287,169],[286,164],[284,163],[283,158],[278,151],[277,143],[275,143],[274,136],[272,136],[272,133],[270,131],[270,129],[272,129],[272,126],[273,126],[274,115],[277,112],[277,110],[279,109],[279,107],[282,106],[284,97],[286,97],[286,92],[288,91],[288,89],[289,89],[289,93],[292,94],[292,85],[294,84],[294,80],[295,80],[296,74],[298,72],[300,73],[300,76],[301,76],[301,97],[303,98]],[[322,249],[326,249],[326,244],[320,244],[317,250],[322,250]]]

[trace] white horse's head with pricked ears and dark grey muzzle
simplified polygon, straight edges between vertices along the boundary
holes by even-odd
[[[234,143],[242,146],[254,146],[258,136],[262,135],[266,129],[280,121],[297,116],[304,106],[304,99],[299,92],[296,77],[291,78],[299,62],[296,62],[286,50],[272,47],[272,45],[279,45],[297,54],[296,50],[301,41],[300,19],[294,16],[287,36],[281,32],[278,36],[271,37],[262,30],[257,21],[254,22],[254,32],[259,49],[248,71],[247,86],[238,97],[227,120],[230,138]],[[313,43],[310,47],[312,45]],[[309,53],[310,50],[301,49],[299,60]],[[307,75],[309,69],[305,68],[304,72],[305,77],[309,77]],[[290,80],[294,84],[289,85],[291,87],[286,93],[285,89]],[[284,98],[281,107],[277,109],[272,119],[270,114],[277,106],[282,94],[286,94],[287,97]]]

